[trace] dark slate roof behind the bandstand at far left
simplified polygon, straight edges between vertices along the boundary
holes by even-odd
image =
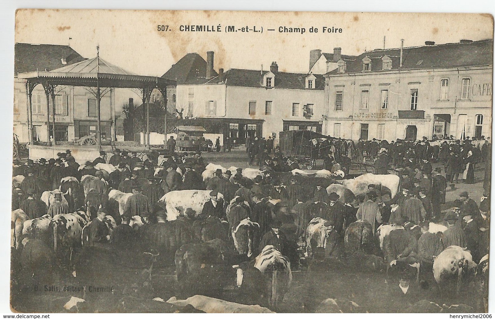
[[[14,46],[14,75],[36,70],[54,70],[66,66],[67,64],[62,64],[62,58],[66,60],[67,64],[85,60],[81,54],[69,46],[16,43]]]

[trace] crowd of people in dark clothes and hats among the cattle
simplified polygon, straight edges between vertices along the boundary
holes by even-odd
[[[273,147],[272,141],[271,138],[248,141],[250,160],[257,155],[258,164],[262,166],[267,157],[275,163],[277,159],[282,159],[283,155],[277,147]],[[57,159],[27,160],[24,164],[14,162],[13,175],[25,178],[22,183],[14,182],[12,209],[21,208],[29,218],[37,218],[46,213],[53,216],[93,207],[90,210],[91,219],[100,221],[96,222],[95,231],[98,234],[95,238],[105,242],[108,237],[103,232],[104,227],[97,227],[104,218],[102,214],[111,215],[117,224],[127,224],[135,215],[155,222],[156,216],[165,209],[158,204],[164,194],[174,190],[209,190],[210,199],[197,219],[220,218],[233,229],[249,217],[260,226],[259,250],[265,245],[273,245],[294,260],[297,259],[297,242],[302,240],[306,226],[315,217],[325,219],[329,234],[339,238],[328,245],[327,255],[332,255],[342,244],[347,226],[357,219],[368,221],[373,231],[380,224],[387,223],[411,222],[427,229],[425,221],[445,221],[451,231],[444,233],[442,245],[468,247],[479,259],[488,249],[489,179],[484,185],[485,194],[480,207],[469,198],[467,192],[459,194],[459,199],[453,202],[453,210],[445,215],[442,214],[442,205],[446,204],[448,183],[455,189],[453,183],[458,182],[460,173],[464,174],[466,183],[473,183],[475,165],[479,162],[490,163],[491,143],[488,139],[453,140],[432,146],[433,142],[426,139],[414,143],[402,140],[393,143],[359,141],[356,145],[357,156],[362,154],[363,157],[374,158],[377,174],[387,174],[395,167],[400,177],[400,187],[398,195],[392,198],[390,191],[381,185],[370,184],[364,197],[357,197],[347,204],[341,203],[336,193],[328,194],[321,184],[314,190],[308,189],[301,185],[297,176],[284,185],[273,176],[258,175],[250,180],[243,176],[242,168],[234,172],[217,169],[213,178],[203,181],[201,173],[206,165],[200,152],[174,152],[172,157],[161,160],[153,152],[139,158],[136,152],[115,150],[109,158],[101,152],[95,160],[80,165],[67,150],[59,153]],[[328,165],[338,164],[333,155],[328,155]],[[432,169],[432,162],[440,165]],[[96,167],[107,163],[117,169],[108,173]],[[86,195],[82,189],[66,192],[63,195],[67,203],[63,203],[62,192],[58,190],[60,181],[74,177],[80,182],[84,175],[98,177],[107,185],[101,189],[96,186]],[[108,194],[113,189],[132,193],[122,216],[118,207],[108,200]],[[40,198],[44,191],[51,190],[55,190],[55,204],[48,208]],[[275,201],[275,204],[270,201]]]

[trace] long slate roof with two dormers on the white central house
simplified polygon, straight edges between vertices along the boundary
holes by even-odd
[[[268,73],[268,70],[246,70],[246,69],[230,69],[225,72],[220,79],[219,76],[208,81],[210,83],[227,83],[229,86],[245,86],[254,88],[264,88],[262,85],[263,76]],[[275,74],[275,88],[282,89],[306,89],[306,77],[309,74],[303,73],[288,73],[288,72],[273,72]],[[315,90],[323,90],[325,80],[323,75],[313,74],[316,77]],[[312,90],[312,89],[307,89]]]

